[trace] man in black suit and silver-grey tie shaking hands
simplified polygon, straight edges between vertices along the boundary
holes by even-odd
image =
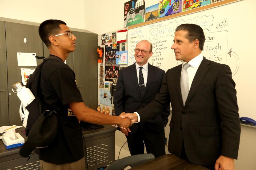
[[[166,72],[160,92],[147,107],[121,117],[143,123],[171,102],[169,152],[209,169],[234,169],[241,129],[231,70],[202,56],[205,36],[198,25],[179,25],[173,42],[182,65]]]

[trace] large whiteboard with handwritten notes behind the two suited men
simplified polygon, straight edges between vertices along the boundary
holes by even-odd
[[[256,120],[256,24],[253,0],[243,0],[144,25],[128,30],[128,65],[135,62],[134,48],[143,39],[153,44],[149,63],[165,71],[182,63],[171,49],[175,28],[183,23],[202,27],[205,44],[202,54],[208,60],[227,64],[236,83],[240,117]]]

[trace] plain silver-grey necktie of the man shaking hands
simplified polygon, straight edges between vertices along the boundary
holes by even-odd
[[[183,65],[183,70],[181,74],[181,96],[183,101],[183,106],[187,100],[187,95],[189,94],[189,75],[187,73],[187,68],[189,68],[189,63]]]

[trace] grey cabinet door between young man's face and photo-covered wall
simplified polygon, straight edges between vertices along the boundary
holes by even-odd
[[[77,37],[74,51],[74,72],[77,87],[86,106],[98,106],[98,35],[73,31]]]

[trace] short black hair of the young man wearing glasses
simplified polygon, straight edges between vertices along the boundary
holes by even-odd
[[[57,35],[61,30],[60,24],[67,25],[65,22],[57,19],[49,19],[40,24],[38,29],[39,36],[47,47],[51,44],[49,37]]]

